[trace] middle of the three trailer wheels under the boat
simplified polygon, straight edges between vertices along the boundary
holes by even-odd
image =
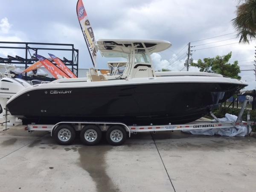
[[[80,140],[85,145],[97,145],[102,138],[102,131],[96,125],[85,125],[80,133]]]

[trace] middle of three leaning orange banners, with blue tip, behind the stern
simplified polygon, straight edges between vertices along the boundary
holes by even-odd
[[[54,76],[56,79],[62,78],[70,78],[66,73],[61,71],[58,67],[56,67],[51,61],[47,58],[44,58],[41,55],[35,55],[35,57],[41,62],[42,65]]]

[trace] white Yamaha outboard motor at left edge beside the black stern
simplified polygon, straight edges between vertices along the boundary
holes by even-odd
[[[9,77],[5,77],[0,80],[0,118],[5,119],[6,114],[6,103],[7,101],[20,90],[23,90],[26,87],[30,87],[31,85],[23,80],[23,79],[12,79]],[[7,116],[8,123],[7,125],[15,125],[15,116],[8,114]]]

